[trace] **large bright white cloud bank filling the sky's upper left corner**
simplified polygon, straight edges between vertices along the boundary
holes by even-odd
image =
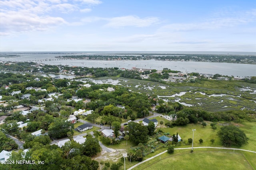
[[[92,9],[85,8],[84,3],[90,6],[100,4],[101,1],[76,0],[71,3],[67,0],[0,0],[1,35],[46,31],[68,23],[61,13],[90,12]]]

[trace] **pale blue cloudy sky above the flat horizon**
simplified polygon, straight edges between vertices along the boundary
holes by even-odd
[[[0,0],[0,51],[256,52],[256,1]]]

